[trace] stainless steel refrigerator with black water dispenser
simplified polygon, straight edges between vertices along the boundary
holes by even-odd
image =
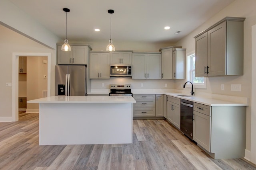
[[[86,96],[86,65],[55,66],[56,96]]]

